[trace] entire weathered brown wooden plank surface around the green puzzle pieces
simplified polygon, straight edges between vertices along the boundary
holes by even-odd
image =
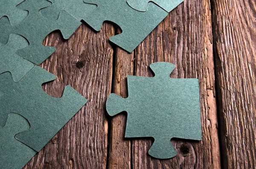
[[[131,54],[109,43],[113,23],[94,32],[83,23],[41,66],[56,75],[45,91],[61,97],[71,85],[88,103],[24,169],[256,168],[256,1],[184,0]],[[173,139],[177,156],[148,156],[148,139],[124,139],[125,113],[113,118],[105,101],[127,97],[127,75],[152,77],[148,66],[171,62],[173,78],[198,78],[202,140]]]

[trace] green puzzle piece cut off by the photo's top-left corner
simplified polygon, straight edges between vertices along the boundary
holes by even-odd
[[[23,0],[1,0],[0,1],[0,18],[7,16],[11,25],[18,24],[26,18],[29,14],[28,11],[24,11],[16,8],[17,5],[22,3]]]

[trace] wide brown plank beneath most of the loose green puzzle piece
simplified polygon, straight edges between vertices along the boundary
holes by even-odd
[[[135,74],[153,76],[148,66],[174,63],[172,78],[198,78],[200,82],[202,141],[173,139],[177,156],[157,160],[147,155],[151,140],[133,140],[133,168],[220,168],[212,22],[208,0],[185,0],[136,49]]]

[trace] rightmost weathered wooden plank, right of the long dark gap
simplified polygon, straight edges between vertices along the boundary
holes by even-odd
[[[222,165],[256,168],[255,0],[212,0]]]

